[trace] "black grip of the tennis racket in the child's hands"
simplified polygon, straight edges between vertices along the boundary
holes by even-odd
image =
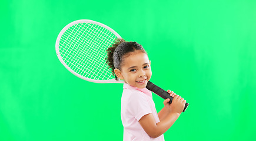
[[[165,91],[164,89],[160,88],[159,86],[155,85],[154,83],[148,81],[146,88],[148,90],[151,90],[152,92],[154,92],[155,94],[159,95],[161,98],[163,99],[167,99],[169,98],[169,103],[172,103],[172,98],[171,96],[169,96],[169,93],[167,91]],[[189,103],[185,103],[185,107],[183,109],[183,112],[185,112],[185,110],[188,108]]]

